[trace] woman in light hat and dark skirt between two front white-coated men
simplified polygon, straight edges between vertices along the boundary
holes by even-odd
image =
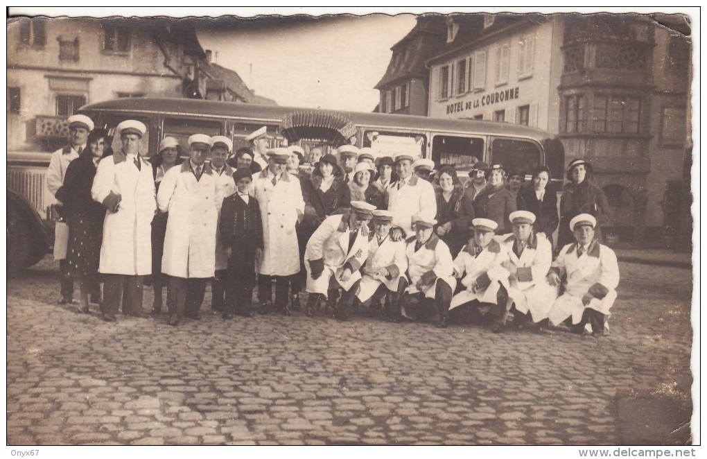
[[[150,158],[152,164],[152,177],[155,179],[155,191],[159,190],[160,183],[170,168],[182,161],[182,148],[174,137],[165,137],[160,142],[159,153]],[[152,289],[155,299],[152,303],[152,313],[158,314],[162,310],[162,288],[167,285],[167,278],[162,274],[162,250],[167,232],[168,213],[157,212],[152,219]]]

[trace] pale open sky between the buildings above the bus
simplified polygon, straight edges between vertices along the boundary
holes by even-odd
[[[414,25],[411,14],[377,14],[276,28],[197,29],[197,35],[217,64],[278,105],[371,112],[390,47]]]

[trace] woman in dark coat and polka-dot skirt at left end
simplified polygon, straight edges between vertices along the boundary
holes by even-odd
[[[66,168],[64,184],[57,190],[57,199],[64,204],[64,214],[69,222],[69,245],[66,262],[69,274],[78,280],[81,298],[78,312],[88,313],[88,294],[100,297],[98,262],[103,241],[105,207],[90,195],[98,161],[110,142],[103,129],[88,134],[88,148]]]

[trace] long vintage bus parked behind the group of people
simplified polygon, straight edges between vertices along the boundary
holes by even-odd
[[[419,157],[431,158],[437,166],[454,165],[462,180],[477,161],[501,163],[508,171],[526,174],[537,165],[547,165],[553,181],[560,184],[564,175],[564,151],[553,134],[503,122],[170,98],[107,100],[84,105],[78,113],[90,117],[95,127],[107,129],[114,150],[121,148],[120,139],[114,135],[119,122],[143,122],[147,127],[143,138],[146,156],[156,154],[165,136],[175,137],[188,151],[187,139],[195,133],[228,136],[235,151],[248,145],[245,139],[249,134],[265,126],[272,136],[271,147],[296,143],[305,153],[315,146],[327,153],[348,143],[370,147],[378,156],[414,149]],[[46,241],[41,240],[42,231],[36,228],[37,221],[42,221],[43,234],[53,237],[49,218],[53,197],[44,183],[49,156],[50,153],[8,153],[8,213],[19,212],[13,209],[25,205],[25,217],[14,219],[12,228],[8,224],[8,267],[11,257],[13,267],[27,267],[38,261],[36,250],[28,253],[27,243],[10,245],[12,240],[20,239],[18,232],[24,239],[35,238],[37,247],[42,248]]]

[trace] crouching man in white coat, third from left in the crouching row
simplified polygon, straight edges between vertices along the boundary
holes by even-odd
[[[413,217],[415,238],[409,240],[407,255],[407,279],[397,292],[400,313],[415,320],[422,308],[414,307],[412,296],[423,296],[434,300],[438,315],[438,328],[446,328],[449,323],[449,305],[457,286],[454,278],[454,262],[447,244],[433,232],[435,219],[417,214]],[[423,300],[424,301],[424,300]],[[418,302],[420,305],[421,302]]]

